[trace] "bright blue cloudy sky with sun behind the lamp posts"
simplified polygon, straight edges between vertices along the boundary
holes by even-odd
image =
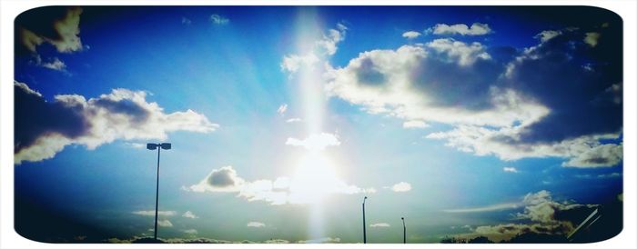
[[[15,19],[35,241],[564,235],[622,198],[622,20],[594,7],[41,7]],[[583,217],[582,217],[583,216]]]

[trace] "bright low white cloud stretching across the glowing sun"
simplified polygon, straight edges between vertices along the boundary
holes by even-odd
[[[356,185],[345,184],[339,179],[319,182],[317,185],[312,185],[311,190],[308,190],[306,185],[307,183],[295,181],[287,176],[278,177],[274,181],[260,179],[248,182],[239,177],[232,166],[225,166],[213,170],[198,184],[182,187],[182,189],[199,193],[236,193],[237,197],[244,198],[248,202],[262,201],[272,205],[308,204],[316,201],[316,198],[308,198],[308,193],[305,193],[305,191],[312,192],[309,195],[316,193],[362,194],[376,192],[373,188],[360,188]]]

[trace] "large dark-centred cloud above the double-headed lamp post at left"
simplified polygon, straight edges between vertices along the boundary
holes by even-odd
[[[52,158],[69,144],[93,150],[118,139],[164,140],[169,132],[209,133],[218,127],[192,110],[167,114],[142,91],[118,88],[88,100],[55,95],[49,102],[24,83],[14,85],[15,164]]]

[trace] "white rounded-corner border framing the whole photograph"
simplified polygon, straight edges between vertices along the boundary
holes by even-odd
[[[34,242],[14,230],[14,18],[20,13],[45,5],[590,5],[608,9],[623,20],[623,203],[621,234],[593,244],[547,244],[551,248],[637,248],[637,1],[634,0],[219,0],[219,1],[105,1],[105,0],[2,0],[0,1],[0,248],[351,248],[354,244],[44,244]],[[356,245],[362,246],[362,245]],[[537,248],[539,244],[365,244],[367,248]]]

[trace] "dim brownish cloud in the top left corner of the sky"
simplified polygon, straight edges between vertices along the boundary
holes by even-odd
[[[18,44],[34,54],[44,43],[54,45],[60,53],[80,51],[83,49],[79,37],[81,14],[80,7],[48,6],[29,10],[15,19]]]

